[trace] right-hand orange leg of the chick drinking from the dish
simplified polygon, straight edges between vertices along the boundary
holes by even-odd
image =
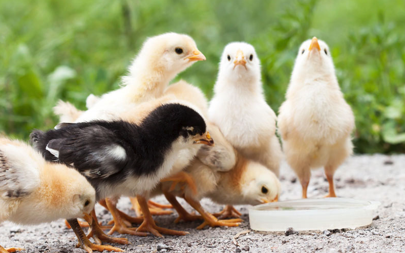
[[[215,217],[214,215],[206,212],[199,201],[185,196],[184,197],[185,200],[187,201],[187,203],[189,203],[191,206],[193,206],[193,208],[195,210],[197,210],[197,212],[199,212],[201,214],[201,216],[204,219],[204,222],[199,225],[197,227],[197,229],[203,229],[205,226],[211,226],[211,227],[215,227],[215,226],[239,226],[243,220],[242,219],[229,219],[229,220],[218,220],[217,217]]]

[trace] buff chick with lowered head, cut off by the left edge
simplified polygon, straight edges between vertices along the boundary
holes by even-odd
[[[76,170],[49,163],[27,144],[0,136],[0,222],[83,217],[94,204],[95,190]],[[8,249],[13,250],[21,249]],[[0,246],[0,252],[8,251]]]

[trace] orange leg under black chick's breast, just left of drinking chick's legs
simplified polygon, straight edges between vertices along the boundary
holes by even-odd
[[[158,236],[158,237],[163,237],[160,233],[163,233],[166,235],[174,235],[174,236],[184,236],[184,235],[189,234],[188,232],[176,231],[176,230],[157,226],[155,221],[152,218],[151,213],[149,212],[146,199],[140,195],[138,195],[137,198],[138,198],[138,202],[139,202],[139,205],[140,205],[142,213],[143,213],[143,222],[138,227],[137,231],[151,232],[153,235]]]

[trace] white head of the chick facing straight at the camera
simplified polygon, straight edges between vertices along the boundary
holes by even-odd
[[[221,56],[218,78],[230,81],[259,81],[260,60],[253,46],[245,42],[227,44]]]

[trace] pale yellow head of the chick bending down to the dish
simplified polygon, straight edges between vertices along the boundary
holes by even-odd
[[[242,195],[246,203],[257,205],[277,201],[280,195],[280,181],[265,166],[250,161],[241,183]]]

